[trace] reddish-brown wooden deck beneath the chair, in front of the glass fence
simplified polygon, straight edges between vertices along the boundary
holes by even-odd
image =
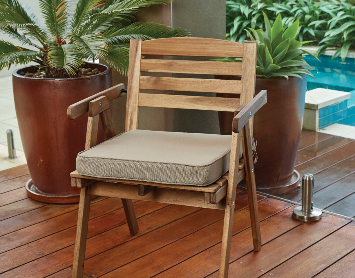
[[[26,165],[0,172],[0,278],[70,278],[78,204],[29,199],[28,179]],[[253,252],[247,194],[237,190],[229,277],[355,277],[355,222],[323,213],[302,223],[291,217],[294,204],[258,201],[263,246]],[[218,277],[223,211],[134,207],[140,232],[132,237],[120,199],[92,200],[84,277]]]

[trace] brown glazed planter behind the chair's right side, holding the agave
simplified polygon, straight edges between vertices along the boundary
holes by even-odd
[[[240,80],[238,76],[216,76]],[[267,90],[268,102],[254,115],[253,137],[258,141],[255,179],[258,191],[282,194],[298,186],[295,171],[297,148],[301,137],[307,75],[256,79],[255,94]],[[220,94],[218,96],[230,94]],[[233,112],[218,112],[221,134],[231,134]]]

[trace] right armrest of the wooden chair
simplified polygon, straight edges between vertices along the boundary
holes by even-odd
[[[267,102],[267,91],[262,90],[233,118],[233,132],[239,133],[249,119]]]

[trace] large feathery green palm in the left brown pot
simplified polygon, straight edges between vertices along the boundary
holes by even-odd
[[[172,0],[39,0],[45,26],[18,0],[0,0],[0,31],[31,48],[0,40],[0,70],[12,64],[37,62],[46,77],[75,76],[84,60],[101,59],[126,74],[129,41],[182,37],[184,29],[135,22],[144,8]],[[72,1],[76,2],[76,1]],[[72,15],[70,11],[73,10]]]

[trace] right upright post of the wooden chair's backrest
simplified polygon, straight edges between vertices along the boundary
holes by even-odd
[[[240,103],[248,104],[254,97],[255,93],[255,76],[256,76],[256,41],[245,41],[243,44],[243,63],[242,63],[242,80]],[[253,138],[253,118],[249,120],[250,138]]]

